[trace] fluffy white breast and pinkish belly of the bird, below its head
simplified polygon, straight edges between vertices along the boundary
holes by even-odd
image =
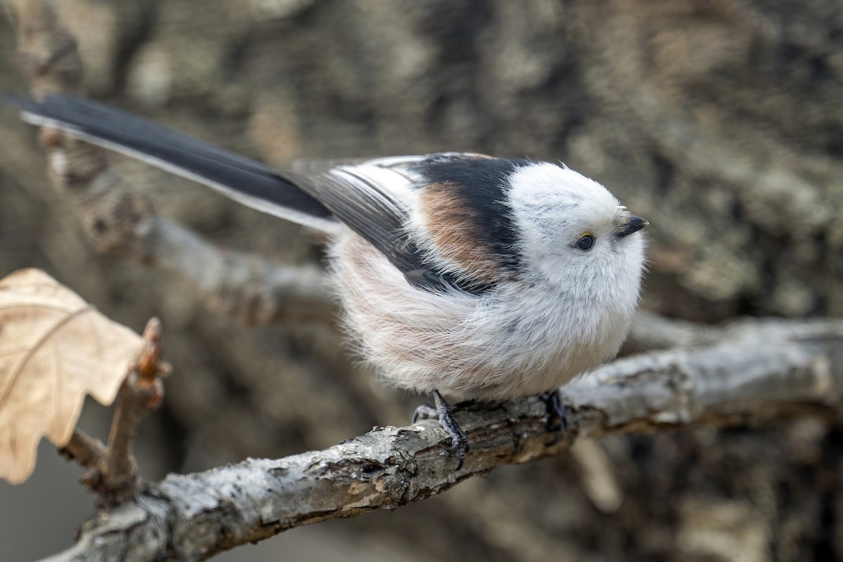
[[[331,257],[344,325],[360,356],[397,386],[458,399],[549,391],[614,357],[641,276],[639,264],[630,279],[615,280],[628,290],[584,301],[576,286],[516,281],[476,297],[411,286],[352,233],[339,238]]]

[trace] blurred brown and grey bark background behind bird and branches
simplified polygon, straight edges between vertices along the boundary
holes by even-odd
[[[643,306],[720,323],[843,316],[840,0],[63,0],[89,96],[239,153],[465,150],[562,160],[651,222]],[[24,92],[0,19],[0,85]],[[225,248],[319,263],[298,227],[111,158]],[[244,327],[191,288],[98,255],[0,106],[0,276],[45,269],[110,318],[165,330],[142,474],[329,447],[403,426],[330,323]],[[88,404],[83,427],[105,435]],[[819,419],[612,437],[432,500],[282,533],[221,560],[843,559],[843,433]],[[93,496],[55,448],[0,483],[3,560],[72,543]]]

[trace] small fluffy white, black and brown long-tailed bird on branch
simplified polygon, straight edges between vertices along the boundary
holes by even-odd
[[[559,388],[615,358],[640,301],[648,222],[561,162],[443,152],[279,170],[91,99],[7,99],[33,125],[325,233],[352,350],[432,395],[412,422],[438,419],[455,470],[470,446],[454,400],[539,395],[564,431]]]

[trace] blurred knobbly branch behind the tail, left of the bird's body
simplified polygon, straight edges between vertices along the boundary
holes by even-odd
[[[8,0],[17,29],[19,67],[33,92],[78,90],[82,62],[76,41],[45,0]],[[260,255],[219,249],[158,214],[148,195],[111,167],[104,151],[44,129],[40,136],[56,189],[71,195],[94,247],[140,261],[196,290],[213,308],[244,324],[281,318],[327,321],[332,313],[325,274],[314,265],[278,265]]]

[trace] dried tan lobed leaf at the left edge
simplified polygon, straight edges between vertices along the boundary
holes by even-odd
[[[111,404],[142,346],[44,271],[0,280],[0,478],[29,478],[41,436],[67,444],[86,394]]]

